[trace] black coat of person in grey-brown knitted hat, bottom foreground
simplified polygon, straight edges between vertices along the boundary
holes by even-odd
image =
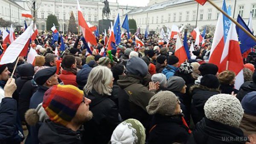
[[[181,115],[156,114],[152,118],[148,144],[185,143],[189,135],[189,128],[183,124]]]

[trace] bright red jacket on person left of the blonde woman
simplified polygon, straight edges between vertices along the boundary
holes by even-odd
[[[73,72],[69,72],[63,69],[59,78],[65,85],[71,84],[73,86],[78,86],[76,83],[76,75]]]

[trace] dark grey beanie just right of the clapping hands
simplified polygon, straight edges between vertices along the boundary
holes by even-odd
[[[180,92],[184,86],[185,81],[178,76],[172,76],[167,81],[167,89],[173,92]]]

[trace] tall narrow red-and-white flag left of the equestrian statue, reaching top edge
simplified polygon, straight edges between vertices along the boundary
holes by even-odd
[[[79,5],[79,1],[77,0],[77,8],[78,8],[78,23],[81,26],[83,36],[87,42],[90,42],[93,45],[97,44],[96,37],[93,35],[93,32],[87,25],[86,21],[84,20],[84,16],[81,11],[81,7]]]

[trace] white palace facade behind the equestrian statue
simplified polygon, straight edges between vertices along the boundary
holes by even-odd
[[[104,7],[103,0],[79,0],[82,13],[87,22],[92,25],[98,25],[98,21],[102,19],[102,8]],[[15,0],[24,9],[29,10],[26,1]],[[118,3],[109,3],[111,14],[110,19],[114,20],[119,13],[122,20],[127,12],[138,7],[131,6],[119,6]],[[54,14],[58,23],[60,24],[60,31],[62,31],[62,19],[64,19],[64,29],[67,31],[70,14],[73,11],[77,20],[77,1],[76,0],[64,0],[62,8],[62,0],[42,0],[41,6],[37,11],[37,27],[39,30],[46,29],[46,19],[49,14]]]

